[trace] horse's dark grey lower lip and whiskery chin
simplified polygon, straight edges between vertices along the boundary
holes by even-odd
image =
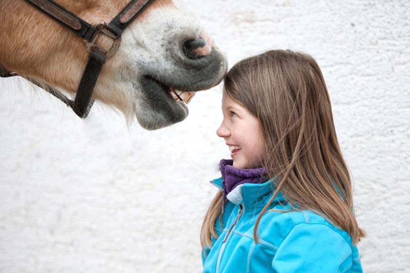
[[[140,100],[135,107],[138,123],[146,130],[168,127],[187,118],[189,111],[185,102],[177,102],[170,88],[151,76],[140,80]]]

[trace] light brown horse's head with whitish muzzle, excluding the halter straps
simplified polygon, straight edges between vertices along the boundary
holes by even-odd
[[[91,54],[84,39],[28,2],[46,8],[54,3],[0,2],[0,74],[13,71],[75,94],[82,77],[88,77],[83,72]],[[144,1],[59,0],[57,6],[68,10],[68,15],[57,12],[57,17],[72,28],[75,20],[70,14],[97,26],[121,15],[129,5],[134,6],[123,10],[120,19],[134,14],[142,5],[138,2]],[[178,10],[171,0],[144,3],[146,7],[118,39],[98,38],[101,46],[119,47],[104,59],[92,100],[118,108],[128,119],[136,115],[142,127],[155,130],[185,119],[193,92],[217,85],[227,71],[227,61],[194,15]]]

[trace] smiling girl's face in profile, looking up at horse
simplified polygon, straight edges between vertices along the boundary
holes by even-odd
[[[223,137],[229,146],[233,166],[239,169],[261,167],[265,151],[259,120],[225,90],[222,94],[222,114],[222,124],[216,134]]]

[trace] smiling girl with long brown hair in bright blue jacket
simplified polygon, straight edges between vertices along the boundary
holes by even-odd
[[[316,61],[289,50],[224,79],[220,191],[201,229],[203,272],[362,272],[350,175]]]

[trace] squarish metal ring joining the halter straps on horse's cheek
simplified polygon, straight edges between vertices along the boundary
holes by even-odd
[[[108,59],[109,57],[114,55],[115,52],[117,52],[119,44],[121,43],[121,37],[117,36],[112,31],[110,31],[110,29],[107,26],[108,25],[105,22],[96,25],[95,28],[97,29],[97,31],[94,33],[91,41],[89,42],[85,40],[85,42],[87,45],[88,52],[91,52],[92,49],[97,49],[106,54]],[[107,37],[110,40],[108,40]]]

